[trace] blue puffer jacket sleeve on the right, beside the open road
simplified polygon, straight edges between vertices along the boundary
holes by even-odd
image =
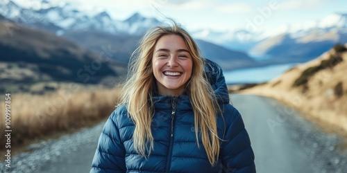
[[[225,104],[223,114],[226,119],[226,134],[221,144],[220,153],[223,172],[255,172],[251,140],[239,111],[231,104]]]

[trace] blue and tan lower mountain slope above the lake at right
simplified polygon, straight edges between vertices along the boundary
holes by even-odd
[[[339,30],[312,30],[303,37],[293,38],[290,34],[278,35],[257,44],[252,53],[271,55],[272,59],[287,62],[306,62],[318,57],[337,43],[346,42],[347,33]]]

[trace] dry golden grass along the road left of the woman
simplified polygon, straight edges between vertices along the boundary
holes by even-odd
[[[11,148],[62,131],[91,125],[110,116],[121,89],[81,89],[71,85],[46,95],[11,95]],[[3,95],[4,97],[4,95]],[[2,99],[2,98],[1,98]],[[1,136],[5,129],[5,102],[0,102]],[[6,143],[1,137],[0,147]],[[1,149],[1,150],[2,150]]]

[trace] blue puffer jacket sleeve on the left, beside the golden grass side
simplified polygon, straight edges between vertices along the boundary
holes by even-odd
[[[116,109],[117,110],[117,109]],[[117,112],[108,118],[99,137],[90,172],[126,172],[124,145],[115,122]]]

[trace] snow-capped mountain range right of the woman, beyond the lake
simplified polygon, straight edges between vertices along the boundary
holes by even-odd
[[[196,30],[194,37],[226,48],[245,51],[253,57],[281,57],[307,60],[328,51],[336,43],[347,42],[347,14],[335,13],[310,21],[271,30],[240,29],[225,32]]]

